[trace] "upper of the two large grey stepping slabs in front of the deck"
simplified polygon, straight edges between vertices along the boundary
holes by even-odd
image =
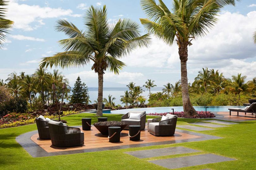
[[[193,153],[200,152],[200,150],[194,150],[185,147],[171,147],[171,148],[161,148],[161,149],[150,149],[150,150],[138,150],[125,152],[126,154],[135,156],[137,158],[150,158],[157,156],[168,156],[168,155],[177,155],[177,154],[185,154],[185,153]]]

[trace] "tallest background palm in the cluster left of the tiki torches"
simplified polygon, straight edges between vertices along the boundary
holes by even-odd
[[[37,85],[38,91],[40,91],[40,95],[43,100],[43,105],[46,105],[46,100],[45,100],[45,89],[49,89],[49,83],[51,80],[50,73],[46,72],[47,70],[40,67],[36,69],[35,73],[33,76],[35,77],[35,83]],[[48,88],[47,88],[48,87]]]

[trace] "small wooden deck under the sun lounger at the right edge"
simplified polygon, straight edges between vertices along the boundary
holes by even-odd
[[[256,117],[254,116],[254,114],[252,115],[251,113],[247,113],[245,115],[245,113],[243,112],[239,112],[239,116],[237,116],[237,112],[236,111],[231,111],[231,116],[229,116],[229,111],[222,111],[222,112],[218,112],[219,115],[223,115],[224,119],[230,119],[230,121],[232,120],[256,120]]]

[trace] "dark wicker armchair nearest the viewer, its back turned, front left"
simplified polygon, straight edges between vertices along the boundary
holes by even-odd
[[[77,127],[48,123],[52,145],[58,147],[79,146],[84,144],[84,133]]]

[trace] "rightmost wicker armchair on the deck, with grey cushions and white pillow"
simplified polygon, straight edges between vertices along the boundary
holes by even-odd
[[[149,133],[155,136],[174,135],[178,116],[163,121],[161,119],[162,117],[158,117],[149,123]]]

